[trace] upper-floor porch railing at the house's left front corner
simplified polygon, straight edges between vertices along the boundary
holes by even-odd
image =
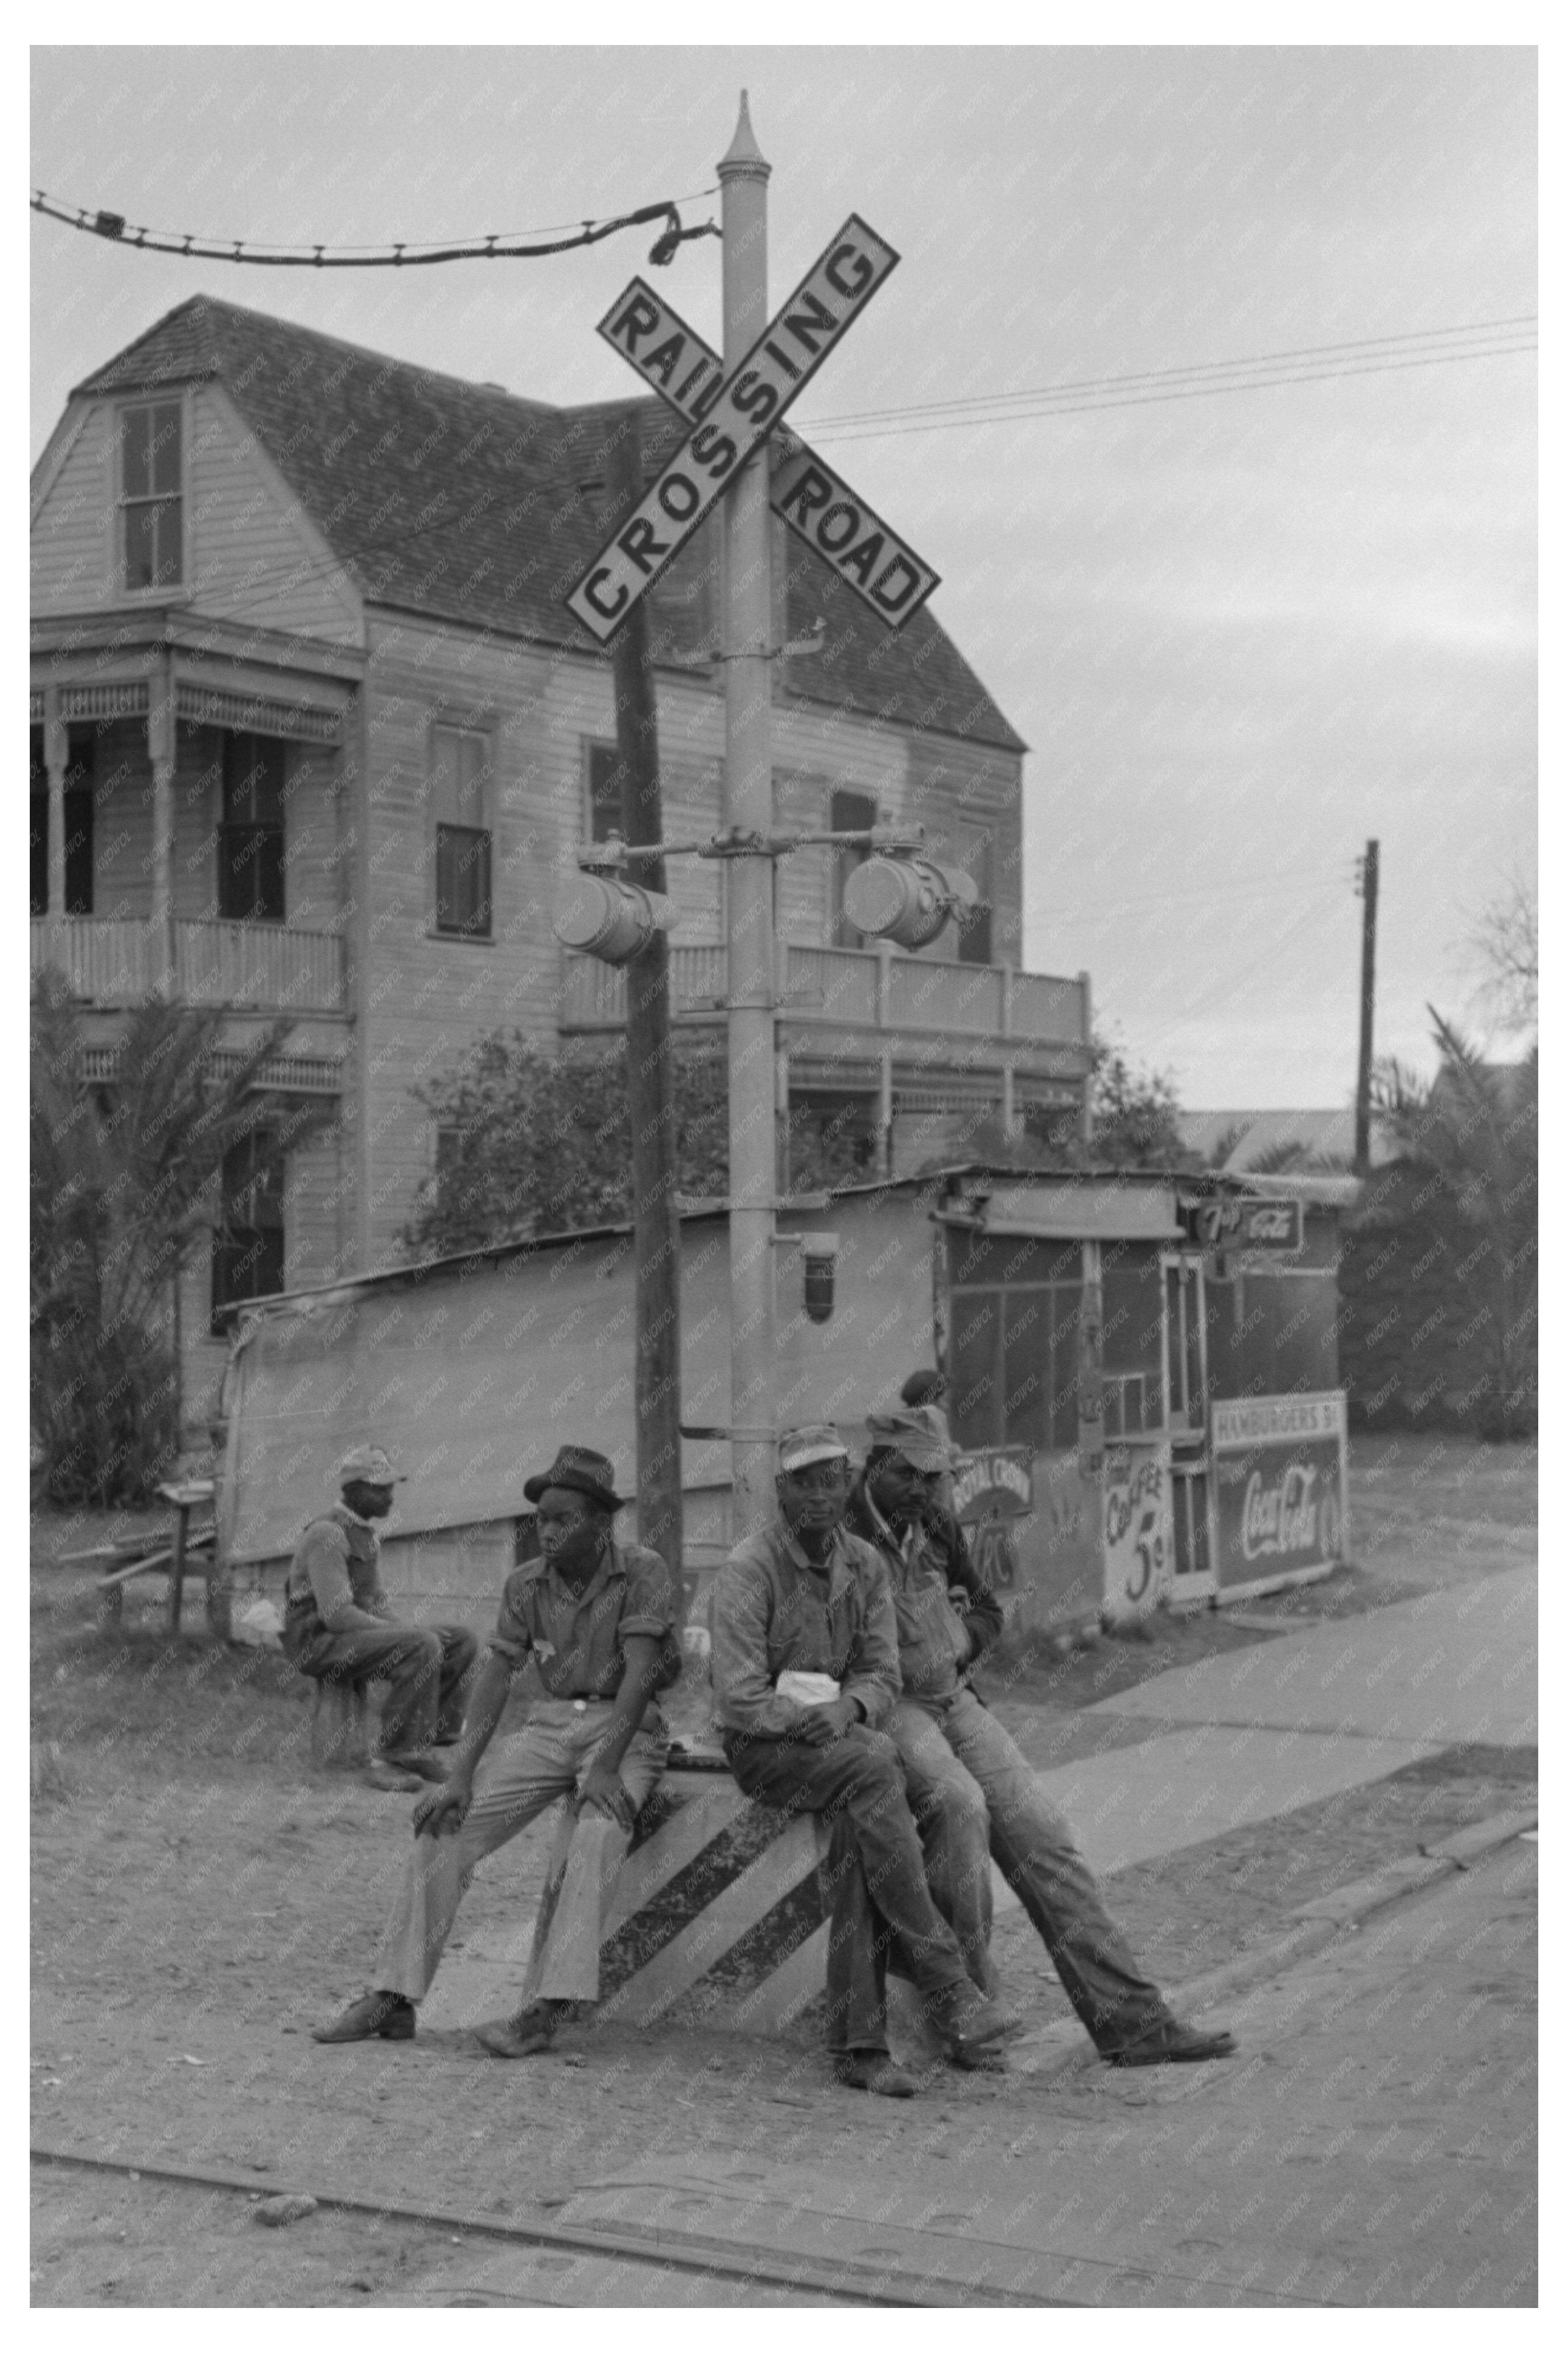
[[[172,986],[188,1005],[336,1014],[346,1007],[346,953],[336,932],[273,922],[174,922]],[[169,941],[158,922],[115,915],[33,915],[33,972],[54,967],[89,1005],[134,1005],[165,979]]]

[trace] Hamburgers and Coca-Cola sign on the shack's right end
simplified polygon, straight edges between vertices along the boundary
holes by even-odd
[[[1326,1577],[1345,1558],[1345,1391],[1213,1405],[1220,1593]]]

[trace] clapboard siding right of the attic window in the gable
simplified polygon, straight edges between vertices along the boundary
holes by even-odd
[[[357,588],[219,384],[190,398],[186,501],[188,593],[202,612],[364,642]]]

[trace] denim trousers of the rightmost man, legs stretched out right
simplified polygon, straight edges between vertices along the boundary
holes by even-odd
[[[950,1699],[905,1694],[889,1734],[922,1819],[933,1885],[943,1887],[976,1984],[994,1991],[987,1953],[994,1859],[1100,2052],[1164,2024],[1166,2000],[1107,1913],[1067,1819],[990,1708],[966,1689]]]

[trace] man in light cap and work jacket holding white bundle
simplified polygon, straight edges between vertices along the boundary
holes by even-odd
[[[827,1424],[788,1431],[776,1485],[778,1520],[736,1546],[712,1588],[724,1755],[748,1798],[832,1824],[827,2049],[839,2082],[907,2099],[917,2082],[886,2045],[877,1915],[959,2066],[1016,2019],[966,1977],[879,1729],[898,1697],[898,1631],[877,1553],[842,1527],[849,1447]]]

